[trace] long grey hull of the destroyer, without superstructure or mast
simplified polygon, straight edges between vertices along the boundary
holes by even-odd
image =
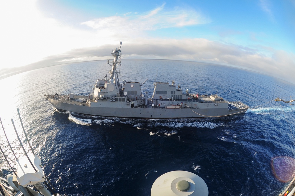
[[[91,107],[87,104],[75,104],[60,101],[54,98],[48,98],[48,101],[54,108],[62,111],[70,111],[92,116],[105,117],[120,117],[120,118],[151,118],[151,119],[165,119],[165,118],[201,118],[201,117],[221,117],[235,114],[242,114],[248,108],[239,110],[229,110],[227,103],[218,106],[202,105],[199,108],[131,108],[131,107]],[[226,105],[225,105],[226,104]],[[202,108],[203,106],[203,108]]]

